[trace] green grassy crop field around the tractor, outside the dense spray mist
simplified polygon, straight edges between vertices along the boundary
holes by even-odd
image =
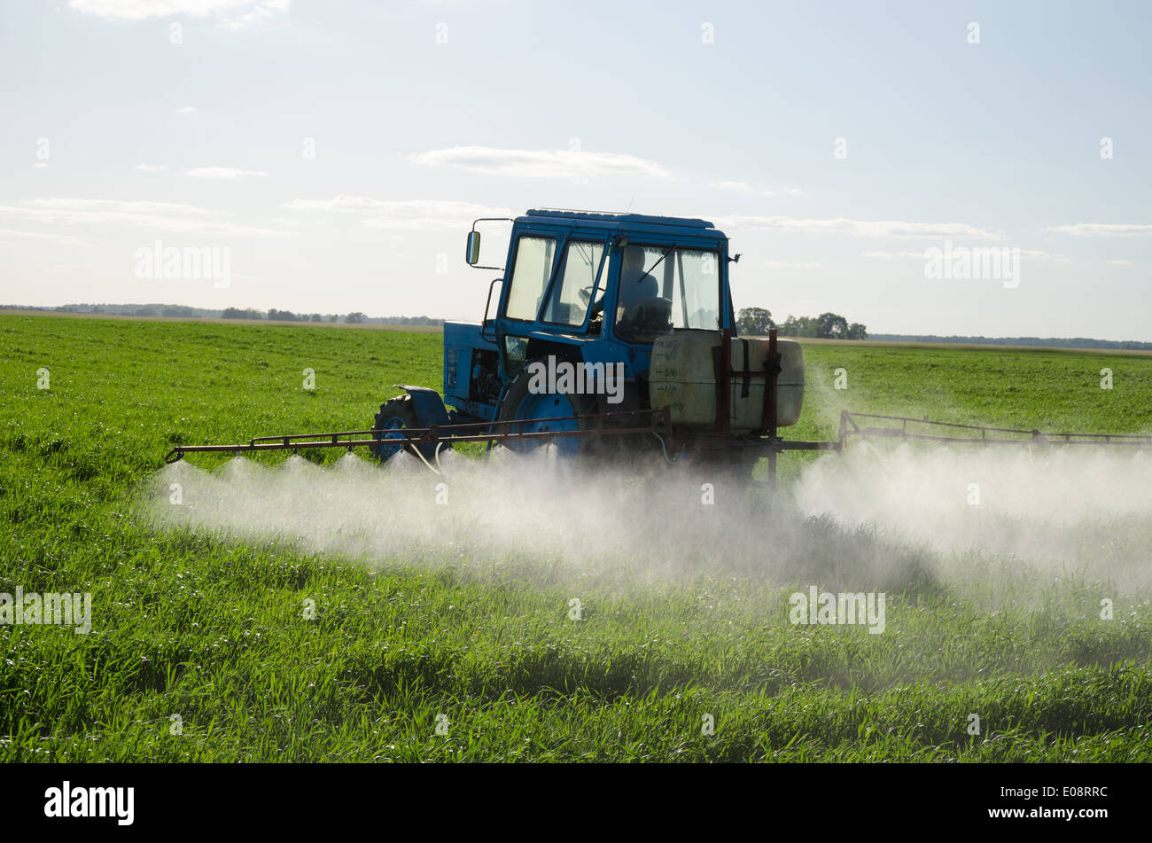
[[[438,334],[0,316],[0,592],[92,593],[89,635],[0,625],[2,761],[1152,760],[1146,591],[759,510],[758,492],[736,509],[765,511],[763,532],[734,539],[738,554],[702,540],[698,564],[661,562],[692,541],[674,525],[651,559],[582,561],[547,540],[495,557],[434,538],[321,554],[139,517],[173,443],[359,430],[392,383],[439,388]],[[805,358],[793,438],[833,436],[842,408],[1152,426],[1146,356],[811,344]],[[787,485],[806,463],[786,461]],[[517,494],[473,491],[470,512]],[[1152,564],[1146,518],[1122,524],[1079,536]],[[885,633],[789,623],[809,584],[887,591]]]

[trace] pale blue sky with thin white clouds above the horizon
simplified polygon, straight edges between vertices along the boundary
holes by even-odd
[[[498,273],[464,264],[472,220],[571,207],[711,220],[736,307],[778,321],[1152,341],[1150,24],[1146,2],[0,0],[0,303],[475,321]],[[214,272],[164,278],[165,250]]]

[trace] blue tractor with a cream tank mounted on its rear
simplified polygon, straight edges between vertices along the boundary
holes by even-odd
[[[672,445],[755,462],[768,454],[752,446],[795,423],[799,345],[735,337],[728,264],[740,256],[711,222],[531,210],[506,220],[505,266],[482,267],[476,225],[493,221],[477,220],[467,245],[468,264],[502,273],[484,319],[445,324],[442,398],[402,386],[380,407],[379,458],[411,445],[412,430],[437,432],[416,446],[430,457],[448,427],[498,433],[518,450],[547,441],[571,460]]]

